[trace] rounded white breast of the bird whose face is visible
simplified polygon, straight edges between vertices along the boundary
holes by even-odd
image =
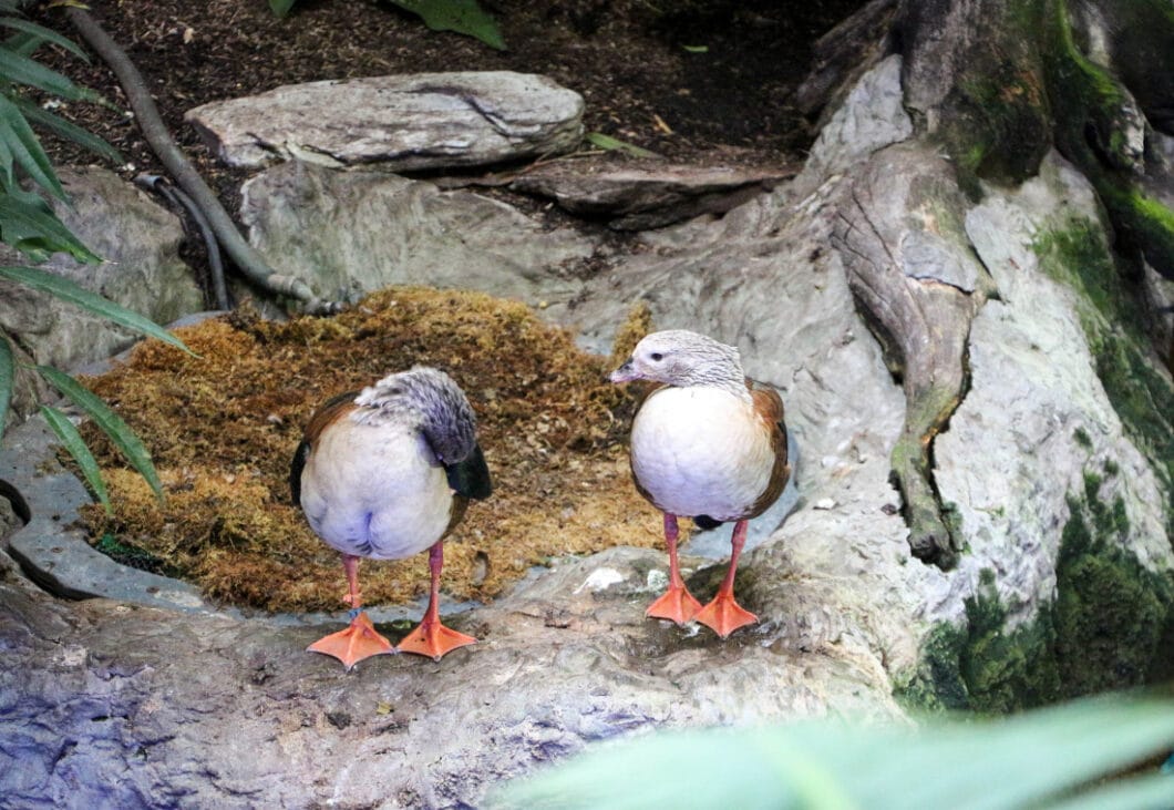
[[[633,473],[673,514],[740,519],[765,492],[774,464],[751,403],[720,389],[661,389],[632,425]]]

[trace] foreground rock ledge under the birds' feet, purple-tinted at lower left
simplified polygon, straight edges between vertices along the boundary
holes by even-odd
[[[326,626],[55,601],[0,554],[0,790],[23,808],[475,806],[619,734],[829,706],[900,716],[856,644],[720,642],[646,620],[662,563],[632,548],[556,561],[450,622],[475,647],[346,674],[304,649]]]

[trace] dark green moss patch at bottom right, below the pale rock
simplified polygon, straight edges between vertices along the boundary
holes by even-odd
[[[1007,627],[994,572],[979,576],[962,626],[929,634],[897,696],[918,708],[1005,713],[1133,687],[1174,670],[1174,578],[1124,551],[1125,504],[1105,504],[1099,475],[1085,475],[1057,560],[1057,598]]]

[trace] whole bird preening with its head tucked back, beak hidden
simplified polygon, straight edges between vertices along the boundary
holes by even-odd
[[[290,468],[294,504],[310,528],[343,555],[351,623],[310,644],[348,669],[394,653],[362,609],[359,558],[399,560],[425,548],[432,588],[420,625],[398,652],[440,660],[477,640],[440,623],[444,536],[468,499],[492,491],[477,423],[448,374],[414,366],[363,391],[330,399],[310,418]]]

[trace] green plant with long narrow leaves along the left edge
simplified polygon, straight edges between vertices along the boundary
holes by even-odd
[[[93,92],[73,83],[32,58],[45,43],[50,43],[86,59],[68,39],[18,16],[18,0],[0,0],[0,27],[13,32],[0,41],[0,241],[25,254],[33,262],[43,262],[55,252],[66,252],[79,262],[97,263],[101,257],[89,250],[58,218],[49,204],[36,193],[20,185],[27,177],[48,195],[67,202],[68,197],[58,180],[53,164],[29,122],[70,139],[102,157],[121,160],[106,141],[39,107],[26,94],[32,90],[48,93],[69,101],[100,101]],[[94,312],[116,324],[143,335],[187,349],[177,338],[149,319],[114,302],[79,286],[74,282],[31,266],[0,266],[0,278],[40,290],[70,304]],[[150,454],[127,424],[68,374],[52,366],[36,366],[35,371],[58,391],[86,411],[127,455],[130,464],[162,497],[162,486],[151,464]],[[15,360],[12,345],[0,335],[0,437],[4,436],[8,404],[15,386]],[[73,423],[59,410],[42,406],[49,427],[77,461],[95,497],[110,511],[106,486],[97,465]]]

